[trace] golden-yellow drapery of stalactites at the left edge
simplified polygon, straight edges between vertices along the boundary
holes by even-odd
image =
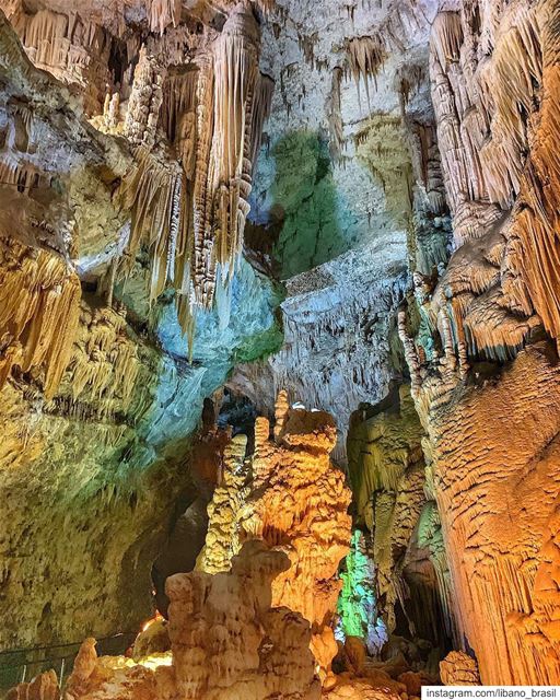
[[[67,262],[18,242],[0,245],[0,387],[14,366],[44,371],[51,398],[72,352],[81,288]]]

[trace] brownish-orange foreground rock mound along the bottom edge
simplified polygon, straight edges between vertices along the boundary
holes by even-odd
[[[288,557],[247,542],[229,573],[167,581],[172,651],[135,662],[101,657],[86,640],[67,684],[72,700],[318,700],[308,622],[272,607],[271,582]]]

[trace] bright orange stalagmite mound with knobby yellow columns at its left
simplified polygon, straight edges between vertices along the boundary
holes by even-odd
[[[312,625],[312,651],[322,679],[337,653],[331,622],[349,551],[350,491],[329,459],[336,427],[324,412],[277,401],[273,439],[266,418],[255,425],[255,452],[236,436],[224,458],[224,481],[209,508],[210,527],[199,560],[205,571],[229,569],[244,539],[261,539],[288,555],[291,565],[272,582],[273,605],[300,612]]]

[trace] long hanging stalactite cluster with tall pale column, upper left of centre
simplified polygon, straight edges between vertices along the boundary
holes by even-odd
[[[253,162],[273,83],[258,71],[260,31],[250,3],[240,3],[197,66],[162,79],[143,48],[125,135],[138,148],[120,188],[132,211],[128,253],[152,253],[151,299],[166,283],[177,292],[179,322],[192,330],[195,307],[213,303],[217,275],[228,283],[243,247]],[[177,152],[153,145],[162,126]],[[129,260],[130,261],[130,260]]]

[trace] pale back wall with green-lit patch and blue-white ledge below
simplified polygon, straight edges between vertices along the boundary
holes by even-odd
[[[280,5],[283,13],[262,30],[261,65],[276,90],[249,232],[277,241],[267,250],[287,282],[284,342],[236,368],[229,385],[262,415],[287,388],[292,400],[335,416],[334,459],[343,465],[350,416],[381,401],[400,375],[395,310],[407,288],[412,219],[425,223],[413,253],[422,269],[446,260],[450,225],[428,89],[438,3]],[[383,46],[378,60],[375,46]]]

